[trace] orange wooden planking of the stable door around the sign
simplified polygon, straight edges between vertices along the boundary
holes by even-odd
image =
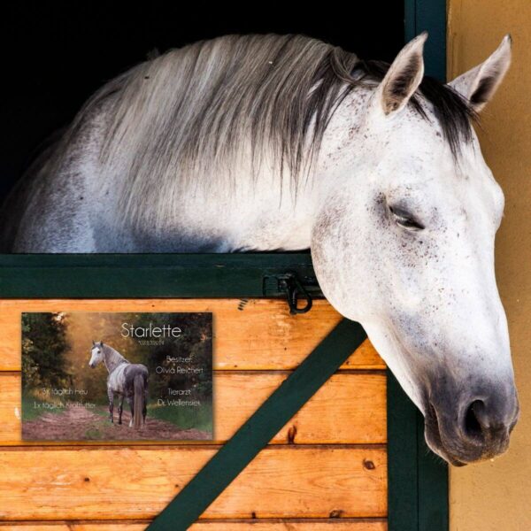
[[[212,443],[27,443],[21,312],[212,312]],[[340,320],[324,300],[0,301],[0,518],[14,529],[142,529]],[[89,350],[88,350],[89,354]],[[385,365],[354,352],[193,529],[387,528]]]

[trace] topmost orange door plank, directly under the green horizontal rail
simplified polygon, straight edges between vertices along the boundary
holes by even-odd
[[[341,319],[327,301],[290,315],[276,299],[1,300],[0,370],[20,369],[21,312],[213,312],[214,369],[284,370],[296,367]],[[370,342],[343,368],[383,369]]]

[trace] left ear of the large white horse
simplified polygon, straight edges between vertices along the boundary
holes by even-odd
[[[424,76],[422,50],[426,39],[427,32],[423,32],[408,42],[381,81],[377,97],[386,115],[403,109],[419,88]]]

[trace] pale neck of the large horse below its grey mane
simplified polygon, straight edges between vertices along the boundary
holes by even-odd
[[[232,252],[235,250],[304,250],[310,247],[312,227],[326,204],[330,189],[337,186],[355,163],[352,140],[362,136],[358,124],[366,116],[367,89],[355,89],[335,110],[323,136],[319,156],[307,174],[298,181],[288,172],[279,178],[278,169],[263,162],[254,178],[250,160],[242,158],[235,174],[219,174],[219,183],[237,183],[219,187],[219,183],[197,180],[197,189],[181,194],[160,194],[157,201],[137,201],[137,218],[112,218],[109,224],[122,227],[147,227],[132,237],[129,251],[173,250],[179,252]],[[267,148],[265,148],[267,149]],[[347,160],[350,157],[352,160]],[[264,161],[268,160],[264,154]],[[347,172],[348,173],[348,172]],[[181,183],[178,183],[181,186]],[[119,189],[119,187],[117,187]],[[230,193],[227,193],[230,190]],[[114,201],[112,194],[108,201]],[[171,201],[170,201],[171,200]],[[204,205],[209,204],[205,209]],[[105,207],[106,208],[106,207]],[[155,219],[156,212],[168,212],[164,227],[149,227],[135,219]],[[112,203],[106,212],[115,212]],[[200,213],[200,215],[198,215]],[[108,215],[114,216],[114,213]],[[128,234],[130,228],[124,228]],[[135,229],[136,230],[136,229]],[[118,243],[106,231],[98,235],[105,250],[118,250]],[[181,234],[186,237],[181,238]],[[173,242],[175,235],[178,235]],[[106,238],[111,238],[107,242]],[[142,241],[137,247],[136,242]],[[122,246],[123,247],[123,246]]]

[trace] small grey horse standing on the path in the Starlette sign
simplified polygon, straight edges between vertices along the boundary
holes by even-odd
[[[129,363],[118,350],[101,342],[92,342],[89,366],[95,368],[104,362],[109,398],[109,417],[114,422],[114,397],[118,395],[118,423],[121,424],[124,398],[131,409],[129,427],[139,429],[146,423],[148,404],[148,368],[142,364]]]

